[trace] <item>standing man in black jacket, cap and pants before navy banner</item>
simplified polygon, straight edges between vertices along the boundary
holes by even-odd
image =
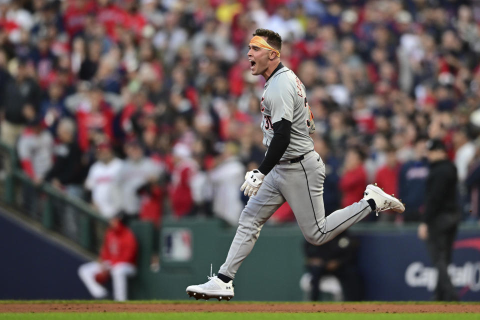
[[[426,180],[425,212],[418,226],[418,237],[426,240],[432,263],[438,270],[435,300],[457,300],[455,289],[447,272],[451,261],[453,241],[460,215],[457,210],[457,173],[448,159],[445,145],[437,139],[429,140],[430,170]]]

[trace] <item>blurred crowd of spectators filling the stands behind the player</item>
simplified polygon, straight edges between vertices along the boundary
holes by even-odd
[[[475,0],[0,0],[1,140],[35,183],[105,217],[236,224],[265,151],[264,79],[246,57],[257,27],[281,35],[307,89],[326,212],[377,182],[406,211],[371,220],[418,221],[425,142],[439,138],[463,218],[478,220]]]

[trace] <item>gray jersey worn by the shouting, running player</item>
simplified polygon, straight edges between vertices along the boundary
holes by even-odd
[[[306,102],[305,86],[292,70],[284,66],[266,81],[260,110],[263,114],[263,144],[266,147],[273,137],[272,124],[281,118],[291,122],[290,144],[280,160],[296,158],[313,149],[313,140],[308,135],[310,108]]]

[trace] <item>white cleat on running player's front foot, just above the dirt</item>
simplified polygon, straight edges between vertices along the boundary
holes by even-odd
[[[216,298],[220,300],[229,300],[233,297],[233,283],[230,280],[228,283],[220,280],[215,274],[208,276],[208,281],[203,284],[189,285],[186,287],[188,296],[193,296],[197,300],[209,298]]]

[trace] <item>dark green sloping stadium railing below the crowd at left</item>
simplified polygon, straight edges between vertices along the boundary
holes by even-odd
[[[18,167],[15,150],[0,141],[0,158],[3,162],[1,201],[20,214],[40,222],[48,230],[59,232],[97,253],[107,219],[101,217],[82,199],[68,195],[43,182],[36,185]]]

